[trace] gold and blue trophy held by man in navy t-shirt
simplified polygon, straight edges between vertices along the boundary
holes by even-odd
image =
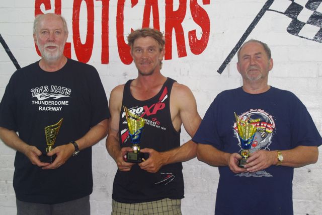
[[[236,125],[237,125],[237,131],[238,136],[240,140],[240,146],[241,146],[241,160],[238,162],[238,167],[244,168],[244,166],[247,164],[247,159],[251,155],[251,147],[254,140],[255,133],[257,131],[257,128],[255,125],[248,122],[248,118],[245,120],[240,120],[238,115],[234,112],[235,118],[236,118]]]

